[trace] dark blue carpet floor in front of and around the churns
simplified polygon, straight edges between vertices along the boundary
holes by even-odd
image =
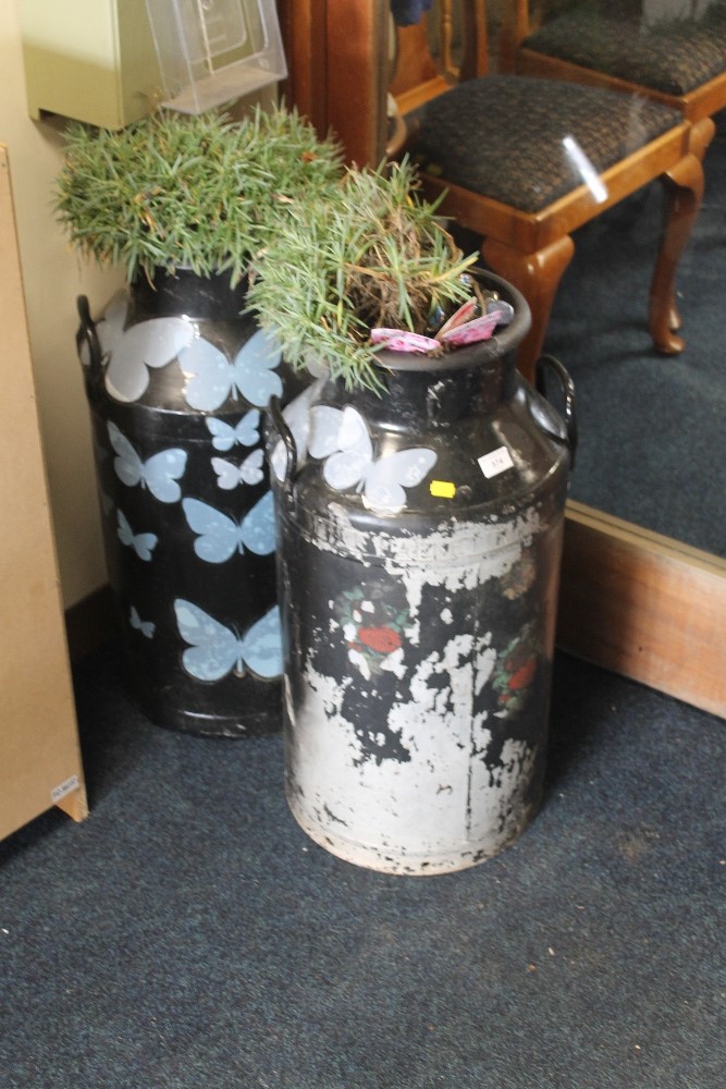
[[[0,844],[8,1089],[721,1089],[724,723],[561,654],[539,818],[484,865],[309,842],[279,736],[77,671],[91,817]]]

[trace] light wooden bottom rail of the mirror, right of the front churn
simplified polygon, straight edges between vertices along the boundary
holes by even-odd
[[[557,644],[726,718],[726,560],[570,501]]]

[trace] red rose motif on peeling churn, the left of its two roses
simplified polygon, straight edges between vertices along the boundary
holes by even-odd
[[[395,672],[404,651],[408,610],[385,600],[381,584],[344,590],[333,604],[346,641],[348,660],[370,680],[377,673]]]

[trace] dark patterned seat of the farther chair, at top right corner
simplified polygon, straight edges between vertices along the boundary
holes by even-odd
[[[576,8],[520,46],[666,95],[686,95],[726,71],[726,3],[711,4],[701,19],[650,25]]]

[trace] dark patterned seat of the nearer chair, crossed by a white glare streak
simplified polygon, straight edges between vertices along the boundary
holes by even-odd
[[[493,75],[418,111],[416,158],[429,174],[537,212],[582,185],[564,136],[602,173],[680,120],[675,109],[617,91]]]

